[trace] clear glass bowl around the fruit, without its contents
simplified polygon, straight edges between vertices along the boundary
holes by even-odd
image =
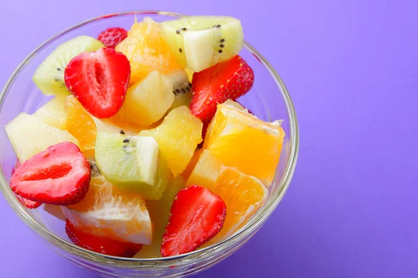
[[[125,259],[77,247],[65,235],[64,223],[61,220],[45,213],[42,207],[30,210],[17,201],[8,185],[16,163],[16,156],[3,126],[21,112],[35,112],[50,99],[50,97],[42,95],[31,80],[33,72],[42,60],[59,44],[77,35],[96,37],[100,31],[111,26],[122,26],[129,29],[134,22],[134,17],[137,17],[138,21],[144,17],[151,17],[157,22],[162,22],[181,16],[167,12],[132,11],[95,17],[72,26],[54,35],[29,54],[10,76],[0,95],[1,192],[15,213],[33,231],[44,238],[55,252],[68,261],[104,277],[184,277],[219,263],[238,250],[261,228],[286,193],[295,170],[299,133],[291,97],[270,63],[246,42],[240,55],[254,70],[255,82],[251,91],[241,97],[239,101],[263,120],[284,120],[282,126],[286,132],[286,138],[267,202],[245,227],[235,234],[215,245],[180,256],[164,259]]]

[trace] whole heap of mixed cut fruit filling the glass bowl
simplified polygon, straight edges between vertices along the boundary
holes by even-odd
[[[5,126],[11,190],[111,256],[231,236],[265,203],[285,137],[238,103],[254,83],[242,47],[240,21],[217,16],[135,19],[59,45],[33,74],[49,101]]]

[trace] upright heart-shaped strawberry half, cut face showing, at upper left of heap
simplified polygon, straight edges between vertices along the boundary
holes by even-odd
[[[91,115],[111,117],[125,100],[130,63],[115,49],[83,52],[65,67],[64,79],[68,90]]]

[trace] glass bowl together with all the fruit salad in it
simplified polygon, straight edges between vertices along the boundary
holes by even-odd
[[[297,122],[277,73],[249,44],[240,51],[236,19],[171,22],[179,17],[138,11],[77,24],[35,49],[1,93],[3,195],[54,251],[100,275],[215,265],[258,231],[293,175]],[[40,67],[60,45],[66,56]],[[95,88],[80,81],[93,78],[88,65]],[[196,234],[184,231],[189,215],[209,223],[206,235],[181,237]]]

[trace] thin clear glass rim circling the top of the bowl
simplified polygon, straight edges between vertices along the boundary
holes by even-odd
[[[15,68],[13,73],[8,78],[8,81],[6,81],[6,84],[4,85],[3,89],[0,92],[0,111],[3,108],[4,100],[6,98],[6,95],[8,95],[8,91],[10,89],[10,85],[13,84],[15,81],[15,78],[20,73],[24,65],[26,63],[29,63],[31,59],[36,56],[38,51],[45,47],[47,44],[53,42],[56,40],[56,38],[61,37],[61,35],[64,35],[65,33],[68,33],[70,31],[75,30],[76,28],[79,28],[81,26],[84,26],[85,24],[88,24],[90,22],[96,22],[100,19],[107,19],[109,17],[118,17],[123,15],[163,15],[163,16],[172,16],[172,17],[185,17],[187,15],[182,15],[179,13],[173,13],[173,12],[164,12],[164,11],[158,11],[158,10],[129,10],[129,11],[122,11],[118,13],[111,13],[107,15],[102,15],[98,17],[92,17],[90,19],[86,19],[83,22],[79,22],[77,24],[74,24],[68,28],[65,28],[63,31],[60,31],[59,33],[56,33],[52,37],[48,38],[44,42],[38,45],[31,53],[22,60],[22,62]],[[153,259],[137,259],[137,258],[122,258],[118,256],[109,256],[106,254],[100,254],[97,252],[93,252],[90,250],[86,250],[82,247],[79,247],[77,245],[74,245],[73,243],[64,240],[60,236],[57,236],[56,234],[52,233],[52,231],[49,231],[46,227],[43,227],[41,224],[33,220],[33,217],[29,215],[29,213],[26,212],[26,208],[20,202],[17,201],[17,199],[13,196],[12,191],[10,190],[10,187],[8,185],[8,181],[6,180],[5,174],[3,173],[3,169],[0,167],[0,190],[1,193],[3,193],[3,196],[5,197],[8,204],[13,208],[13,211],[22,219],[22,221],[29,226],[33,231],[36,232],[39,236],[44,238],[45,240],[49,241],[56,247],[58,247],[61,250],[65,250],[67,252],[70,252],[71,254],[76,254],[77,256],[81,256],[83,259],[86,259],[88,261],[99,261],[100,263],[112,263],[114,265],[123,266],[126,265],[126,263],[142,263],[138,264],[138,267],[141,266],[147,266],[146,263],[153,263],[152,265],[155,265],[155,262],[164,262],[164,263],[176,263],[184,259],[185,257],[190,256],[201,256],[205,254],[206,252],[218,252],[218,250],[223,250],[226,247],[229,247],[228,243],[233,244],[235,241],[240,241],[245,238],[245,235],[249,231],[253,231],[254,229],[258,229],[261,227],[261,224],[267,220],[267,218],[271,215],[271,213],[274,211],[274,209],[277,207],[281,199],[284,197],[284,194],[286,193],[286,190],[288,189],[288,186],[291,183],[291,179],[293,177],[293,174],[295,172],[295,166],[297,163],[297,154],[299,152],[299,127],[297,124],[297,116],[295,112],[295,108],[293,106],[293,102],[291,100],[291,96],[288,93],[288,90],[286,89],[286,85],[284,85],[284,82],[281,80],[279,74],[277,74],[276,70],[272,67],[272,65],[264,58],[263,55],[260,54],[254,47],[251,46],[248,42],[244,41],[244,47],[253,54],[270,72],[272,78],[274,79],[275,83],[277,84],[277,87],[279,88],[279,91],[281,92],[281,97],[283,97],[285,104],[286,104],[286,110],[288,112],[289,117],[289,129],[291,133],[291,140],[289,141],[290,145],[290,156],[288,163],[286,165],[286,169],[283,172],[283,175],[281,177],[281,180],[279,181],[279,190],[277,190],[277,193],[272,195],[272,197],[264,204],[264,206],[258,210],[256,215],[251,218],[247,224],[245,224],[244,227],[242,227],[240,230],[236,231],[234,234],[229,236],[228,238],[225,238],[224,240],[221,240],[213,245],[209,245],[207,247],[204,247],[200,250],[195,250],[193,252],[189,252],[186,254],[181,254],[177,256],[169,256],[164,258],[153,258]],[[274,180],[272,183],[277,183],[277,175],[275,175]],[[150,266],[150,265],[148,265]]]

